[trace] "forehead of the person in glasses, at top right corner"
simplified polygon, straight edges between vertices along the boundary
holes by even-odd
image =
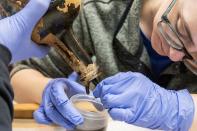
[[[197,0],[179,0],[179,11],[182,13],[197,47]]]

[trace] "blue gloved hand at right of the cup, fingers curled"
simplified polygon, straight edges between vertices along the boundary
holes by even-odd
[[[188,131],[192,124],[194,103],[187,90],[166,90],[140,73],[106,78],[93,94],[101,98],[115,120],[173,131]]]

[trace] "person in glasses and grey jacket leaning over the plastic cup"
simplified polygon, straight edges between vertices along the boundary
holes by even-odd
[[[83,1],[72,29],[102,71],[93,94],[113,119],[161,130],[195,127],[195,3]],[[64,34],[65,43],[68,37]],[[11,72],[15,99],[40,103],[37,122],[74,128],[83,117],[69,98],[84,90],[75,82],[76,74],[68,77],[71,72],[55,49],[45,58],[22,61]]]

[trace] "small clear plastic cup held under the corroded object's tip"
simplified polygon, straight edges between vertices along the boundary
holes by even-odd
[[[70,98],[73,106],[84,117],[84,122],[76,127],[82,131],[105,131],[108,125],[108,114],[100,99],[87,94],[77,94]]]

